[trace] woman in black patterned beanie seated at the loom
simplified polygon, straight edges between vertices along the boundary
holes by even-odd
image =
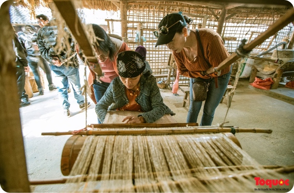
[[[111,82],[95,107],[101,123],[107,109],[142,112],[136,118],[127,116],[123,120],[126,123],[153,123],[164,114],[174,115],[163,103],[154,76],[150,72],[143,74],[145,66],[144,57],[138,52],[125,51],[118,54],[119,77]]]

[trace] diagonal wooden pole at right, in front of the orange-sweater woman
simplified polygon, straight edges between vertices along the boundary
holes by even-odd
[[[267,40],[270,36],[274,35],[277,33],[279,30],[281,30],[284,26],[289,24],[291,21],[294,20],[294,8],[291,8],[285,15],[280,17],[273,25],[271,25],[265,32],[261,33],[258,35],[254,40],[246,44],[243,49],[245,51],[251,51],[253,48],[256,46],[262,44],[264,41]],[[235,62],[237,59],[239,59],[240,56],[237,55],[237,53],[233,53],[230,57],[225,59],[222,63],[220,63],[216,69],[222,70],[225,69],[226,67],[230,66],[233,62]],[[214,69],[208,69],[207,73],[213,73]]]

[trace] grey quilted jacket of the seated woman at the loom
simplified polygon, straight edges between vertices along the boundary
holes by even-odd
[[[175,115],[175,113],[163,103],[159,88],[156,84],[156,78],[153,75],[149,77],[145,77],[144,75],[141,76],[140,94],[135,100],[145,111],[138,114],[138,117],[142,116],[146,123],[153,123],[162,118],[164,114]],[[103,123],[107,109],[115,110],[128,103],[129,100],[125,94],[125,86],[120,78],[117,77],[111,82],[103,97],[96,104],[96,114],[100,122]]]

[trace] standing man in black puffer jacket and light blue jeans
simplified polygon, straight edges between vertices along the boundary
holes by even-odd
[[[56,78],[60,80],[57,84],[59,99],[61,101],[62,108],[64,109],[64,115],[69,117],[70,103],[67,95],[68,82],[70,82],[73,86],[73,92],[80,108],[85,108],[85,99],[82,95],[82,91],[80,90],[81,84],[79,63],[77,59],[77,52],[75,51],[75,43],[69,34],[69,38],[62,38],[62,40],[68,41],[64,42],[64,44],[69,44],[70,49],[57,50],[55,47],[57,44],[56,39],[58,30],[64,30],[65,33],[69,32],[66,29],[58,29],[55,19],[47,22],[48,19],[44,19],[44,16],[40,17],[39,15],[36,17],[37,19],[39,18],[40,22],[39,20],[38,22],[41,24],[43,24],[43,21],[45,20],[45,24],[41,27],[37,36],[39,51],[42,57],[50,63],[52,71],[56,74]],[[41,21],[41,19],[43,21]],[[90,106],[90,102],[88,102],[87,105]]]

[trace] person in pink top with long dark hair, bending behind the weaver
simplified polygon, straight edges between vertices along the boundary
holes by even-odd
[[[88,83],[92,90],[92,100],[95,104],[99,102],[108,86],[118,75],[117,72],[117,55],[118,53],[129,51],[130,48],[123,42],[123,38],[115,34],[107,34],[102,27],[92,24],[94,33],[101,40],[97,40],[99,47],[95,48],[98,55],[99,64],[104,73],[100,78],[101,83],[96,81],[95,72],[90,69]],[[101,122],[98,119],[98,123]]]

